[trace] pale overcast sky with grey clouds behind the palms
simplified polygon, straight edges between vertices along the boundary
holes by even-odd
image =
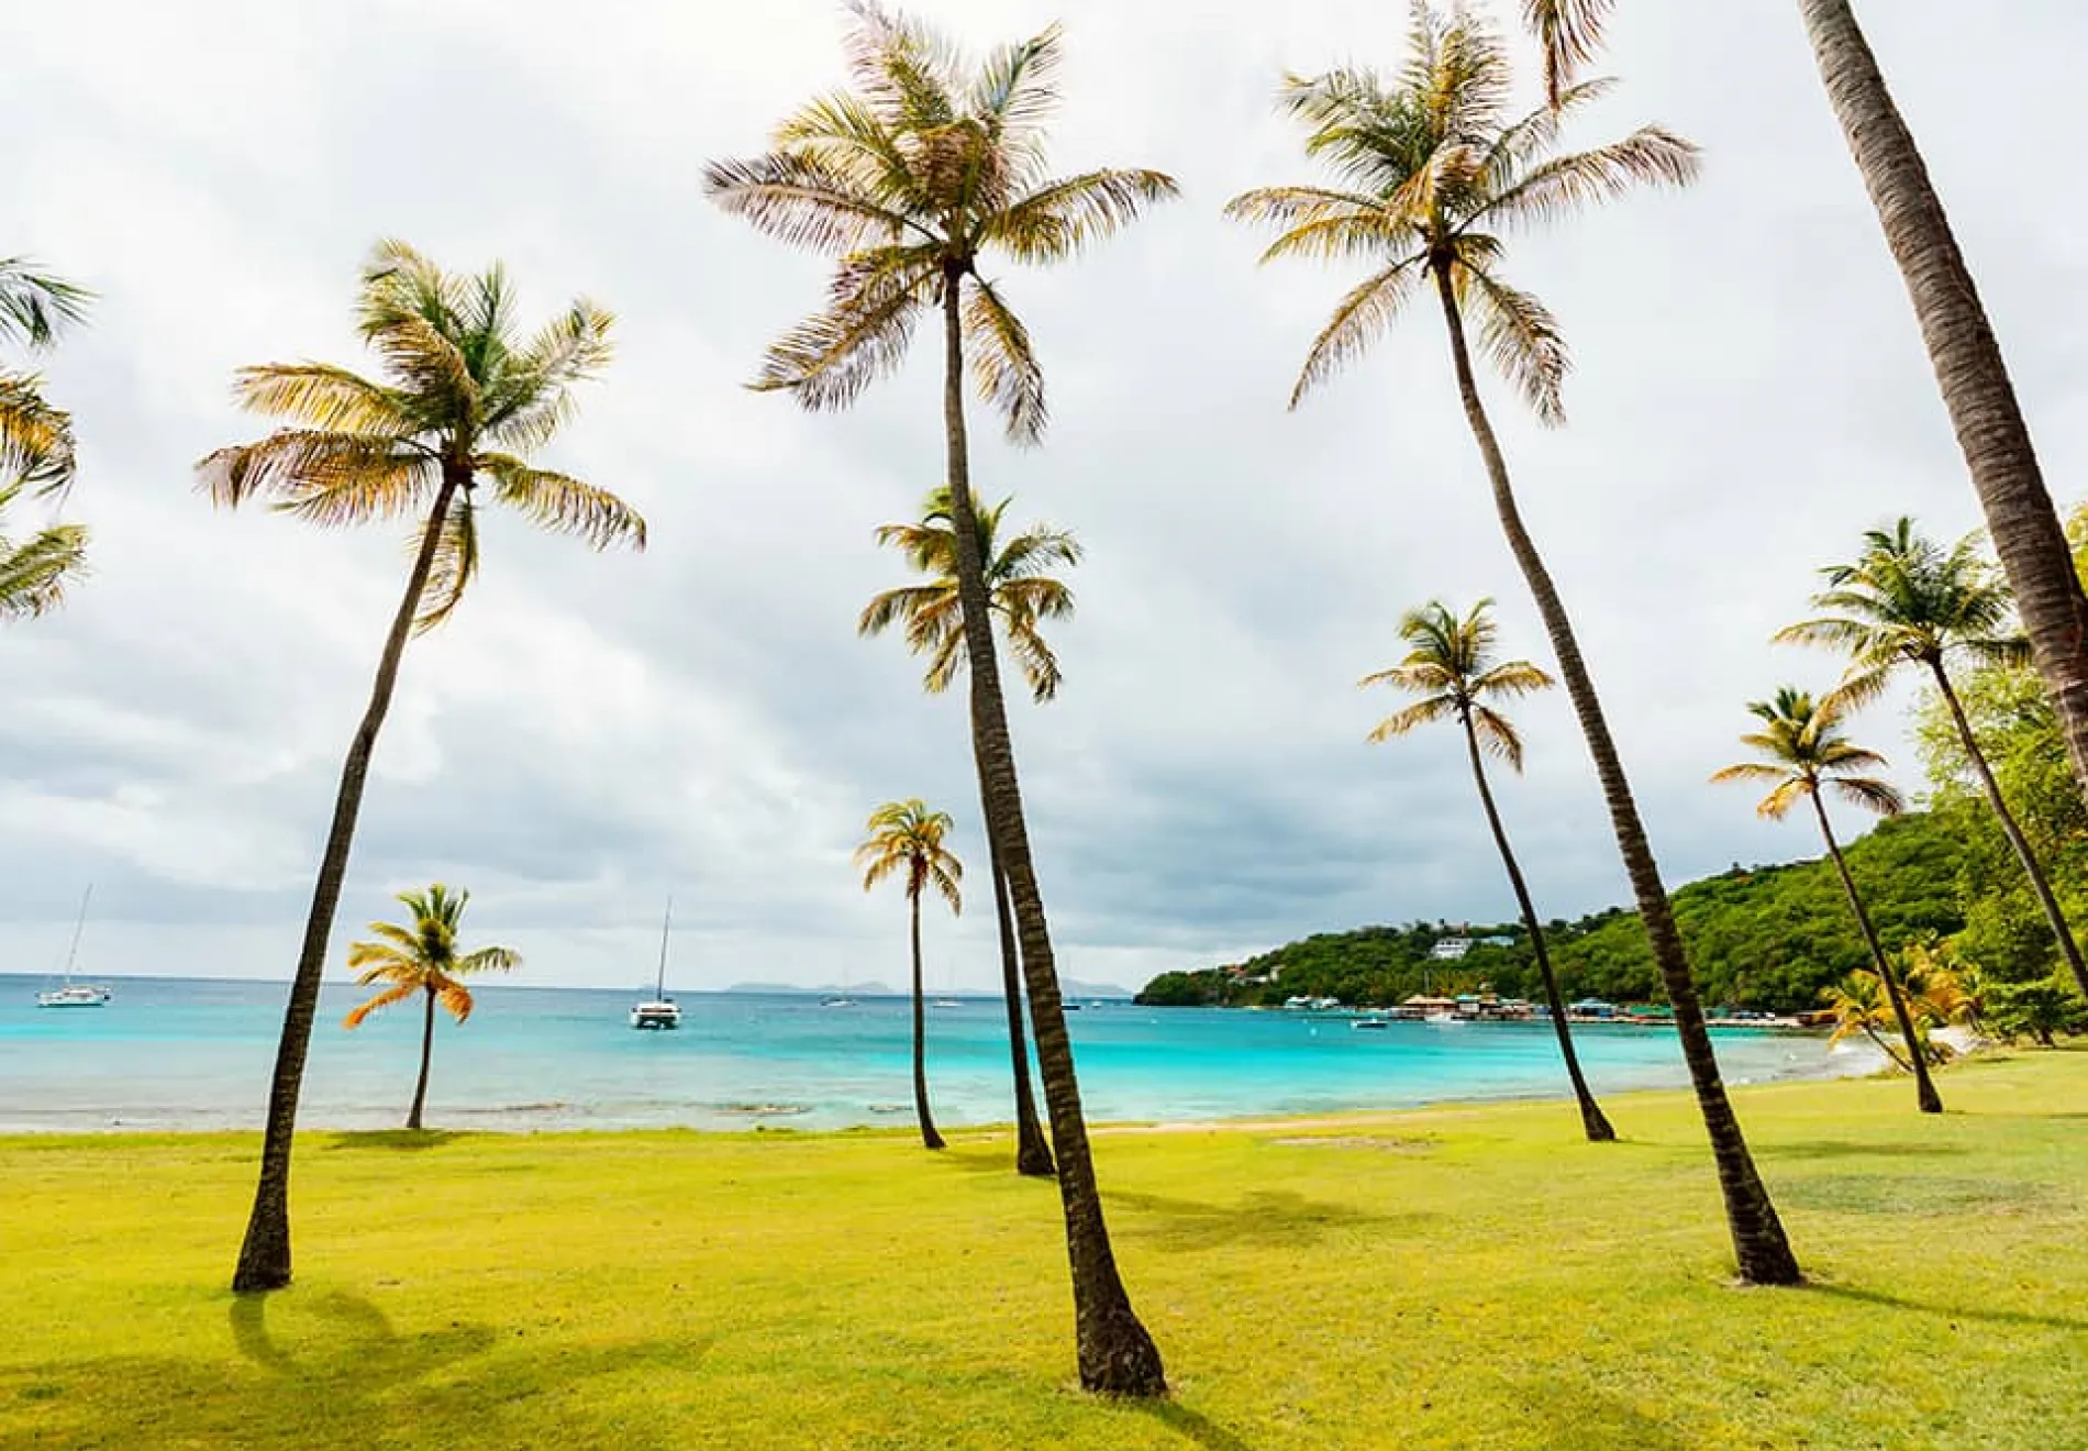
[[[1061,971],[1138,985],[1309,931],[1512,914],[1453,731],[1368,747],[1430,597],[1501,601],[1547,662],[1449,380],[1416,311],[1299,413],[1290,378],[1355,271],[1257,269],[1219,219],[1307,180],[1270,109],[1286,69],[1393,65],[1374,0],[935,0],[971,44],[1067,29],[1061,169],[1150,165],[1182,198],[1052,276],[1006,269],[1052,434],[975,430],[981,493],[1079,532],[1061,699],[1011,701]],[[2088,203],[2050,182],[2088,13],[2017,0],[1865,21],[2000,328],[2061,499],[2088,461]],[[338,942],[393,891],[474,891],[520,981],[631,985],[677,898],[672,979],[902,981],[904,906],[850,869],[862,818],[923,795],[983,864],[958,697],[854,616],[902,578],[871,530],[938,482],[938,359],[850,415],[754,395],[823,265],[699,192],[839,81],[827,0],[67,0],[0,10],[15,140],[0,255],[100,294],[48,363],[77,413],[71,514],[96,576],[0,635],[0,971],[48,973],[96,885],[100,975],[288,975],[340,754],[403,578],[401,537],[213,514],[190,463],[263,424],[242,363],[367,367],[357,265],[401,236],[505,259],[524,313],[589,294],[620,355],[551,461],[651,522],[595,557],[491,520],[476,591],[418,641],[378,745]],[[1796,6],[1622,6],[1629,84],[1576,134],[1658,119],[1704,182],[1514,242],[1574,342],[1572,426],[1491,386],[1528,522],[1574,612],[1668,881],[1814,850],[1706,785],[1741,706],[1825,658],[1777,651],[1819,564],[1911,512],[1977,524],[1900,282],[1827,113]],[[2040,180],[2044,177],[2044,180]],[[1894,701],[1862,720],[1919,770]],[[1566,701],[1520,710],[1503,810],[1545,914],[1627,896]],[[977,873],[983,885],[983,869]],[[994,981],[981,891],[931,919],[931,983]],[[334,973],[340,969],[336,967]]]

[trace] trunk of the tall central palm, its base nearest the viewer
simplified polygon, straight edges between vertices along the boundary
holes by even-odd
[[[1052,1155],[1059,1161],[1059,1203],[1065,1211],[1065,1246],[1073,1271],[1079,1384],[1105,1395],[1159,1397],[1167,1395],[1161,1353],[1132,1309],[1102,1219],[1102,1194],[1094,1182],[1088,1123],[1079,1109],[1079,1079],[1073,1073],[1073,1042],[1065,1031],[1050,927],[1044,921],[1044,898],[1038,894],[1036,864],[1029,858],[1015,750],[1000,697],[1000,662],[994,651],[986,557],[979,545],[979,518],[971,503],[971,459],[965,441],[963,282],[965,265],[946,263],[942,413],[948,436],[950,524],[956,534],[956,591],[971,672],[971,735],[986,783],[986,829],[1000,846],[1000,864],[1009,875],[1023,981],[1029,990],[1029,1025],[1038,1044],[1038,1069],[1044,1075],[1044,1111],[1050,1117]]]

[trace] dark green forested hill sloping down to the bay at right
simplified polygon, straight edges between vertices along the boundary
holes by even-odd
[[[1965,823],[1954,812],[1911,812],[1879,823],[1848,848],[1888,950],[1965,925],[1959,896]],[[1867,967],[1842,883],[1827,860],[1752,866],[1693,881],[1675,894],[1675,917],[1708,1006],[1804,1010],[1819,992]],[[1460,960],[1430,960],[1437,942],[1472,939]],[[1495,942],[1487,942],[1487,939]],[[1568,998],[1658,1002],[1645,933],[1635,910],[1610,908],[1576,923],[1545,923],[1545,942]],[[1391,1004],[1432,988],[1503,996],[1543,992],[1520,923],[1361,927],[1324,933],[1247,962],[1161,973],[1138,1002],[1155,1006],[1276,1006],[1290,996]]]

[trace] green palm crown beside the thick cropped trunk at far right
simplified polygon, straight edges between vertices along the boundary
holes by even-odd
[[[2030,643],[2011,631],[2009,587],[1979,557],[1975,537],[1944,549],[1902,518],[1892,528],[1867,530],[1862,543],[1854,564],[1821,570],[1829,589],[1812,605],[1833,614],[1777,631],[1779,643],[1846,651],[1842,693],[1869,699],[1894,666],[1938,668],[1952,653],[1990,664],[2030,662]]]

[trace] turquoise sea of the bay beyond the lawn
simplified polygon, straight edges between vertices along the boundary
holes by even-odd
[[[0,1132],[259,1127],[284,983],[119,977],[100,1008],[40,1008],[40,977],[0,975]],[[639,1033],[643,994],[480,988],[468,1023],[434,1031],[428,1123],[472,1129],[804,1127],[910,1123],[908,1004],[821,1006],[791,994],[683,994],[683,1027]],[[347,1031],[361,992],[319,996],[299,1121],[405,1119],[418,1004]],[[1092,1119],[1186,1123],[1564,1096],[1545,1023],[1395,1023],[1338,1015],[1140,1008],[1069,1015]],[[948,1125],[1011,1117],[1006,1019],[996,998],[929,1008],[929,1092]],[[1877,1067],[1821,1038],[1721,1029],[1727,1081]],[[1574,1027],[1597,1094],[1687,1081],[1668,1029]]]

